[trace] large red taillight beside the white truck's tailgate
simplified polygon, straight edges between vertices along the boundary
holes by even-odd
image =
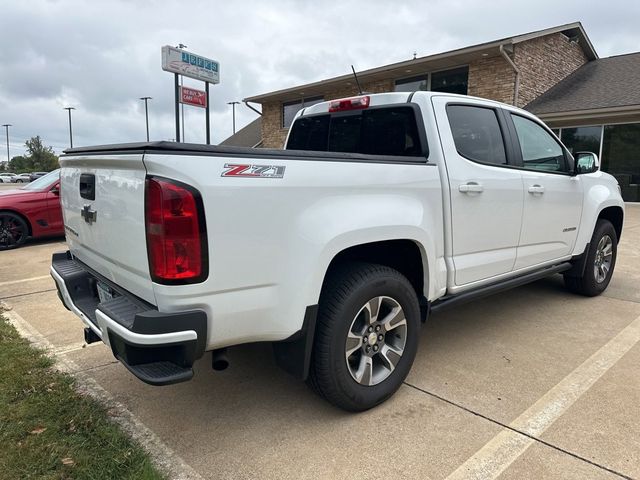
[[[176,285],[207,277],[206,227],[196,190],[173,180],[148,177],[145,222],[154,282]]]

